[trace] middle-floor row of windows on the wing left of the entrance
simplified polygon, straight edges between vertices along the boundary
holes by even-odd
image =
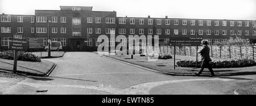
[[[52,27],[52,33],[57,33],[58,28]],[[1,27],[1,33],[11,33],[11,27]],[[17,33],[23,33],[23,27],[18,27]],[[35,28],[31,27],[31,33],[35,33]],[[47,33],[47,27],[36,27],[36,33]],[[67,33],[66,27],[60,28],[60,33]]]

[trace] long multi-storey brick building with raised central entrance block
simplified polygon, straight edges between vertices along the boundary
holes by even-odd
[[[42,39],[47,46],[48,33],[52,41],[61,41],[65,50],[97,50],[100,35],[199,36],[210,41],[225,42],[241,36],[256,43],[255,20],[213,20],[174,18],[117,17],[115,11],[92,11],[92,7],[60,6],[60,10],[35,10],[35,15],[1,16],[1,48],[8,48],[8,37],[18,33],[24,38]],[[107,42],[110,46],[114,40]],[[127,43],[127,41],[125,41]]]

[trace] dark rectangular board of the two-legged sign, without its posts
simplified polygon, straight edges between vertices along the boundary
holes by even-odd
[[[200,46],[201,37],[171,37],[170,44],[176,46]]]

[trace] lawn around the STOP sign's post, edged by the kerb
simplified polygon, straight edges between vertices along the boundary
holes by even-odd
[[[12,71],[13,62],[13,60],[5,60],[0,58],[0,70]],[[45,75],[54,65],[55,63],[45,60],[42,60],[42,62],[18,61],[17,71],[28,74]]]

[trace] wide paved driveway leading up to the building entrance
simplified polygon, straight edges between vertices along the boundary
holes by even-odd
[[[50,77],[15,82],[3,94],[234,94],[239,87],[256,84],[256,75],[178,77],[89,52],[47,60],[57,64]]]

